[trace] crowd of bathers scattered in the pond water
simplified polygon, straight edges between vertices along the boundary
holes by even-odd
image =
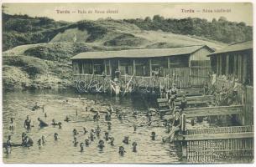
[[[38,104],[36,104],[36,105],[38,105]],[[43,112],[44,112],[44,106],[41,107],[41,108],[43,108]],[[94,108],[88,109],[87,107],[86,107],[86,111],[94,113],[92,115],[92,120],[93,121],[99,121],[99,119],[101,119],[101,116],[103,116],[103,118],[107,122],[107,131],[102,132],[102,129],[99,125],[97,125],[97,127],[95,129],[87,129],[86,127],[81,127],[82,133],[84,134],[82,136],[84,137],[87,134],[88,137],[86,139],[78,139],[79,137],[81,137],[81,135],[78,135],[79,131],[77,129],[73,129],[72,134],[73,134],[73,144],[74,144],[74,146],[79,145],[80,151],[83,152],[83,151],[85,151],[85,147],[89,147],[92,142],[96,141],[96,138],[98,139],[97,147],[99,149],[103,149],[106,144],[110,144],[111,146],[114,146],[115,145],[115,142],[114,142],[115,138],[114,138],[114,136],[112,136],[112,133],[111,133],[112,118],[113,118],[113,114],[114,114],[115,119],[119,119],[120,121],[122,121],[125,117],[125,114],[124,114],[123,110],[118,108],[118,107],[114,108],[110,104],[107,107],[107,111],[104,112],[104,113],[100,113],[99,111],[97,111]],[[77,110],[76,110],[76,116],[77,116]],[[134,119],[137,119],[138,111],[133,109],[132,116],[133,116]],[[152,111],[148,110],[147,113],[146,113],[146,117],[148,119],[148,124],[146,124],[146,125],[148,125],[148,126],[151,125],[151,123],[152,123],[151,117],[152,116],[153,116]],[[45,112],[44,112],[44,117],[47,117],[47,114]],[[56,122],[55,119],[52,119],[51,124],[45,123],[44,120],[42,120],[40,118],[38,118],[38,121],[39,121],[39,128],[44,128],[44,127],[48,127],[48,126],[52,125],[52,126],[59,127],[59,129],[62,129],[62,123],[61,122]],[[65,116],[64,121],[66,122],[66,124],[68,124],[71,121],[71,118],[69,116]],[[14,126],[15,126],[14,125],[14,119],[11,118],[10,119],[10,124],[9,124],[9,129],[13,130]],[[144,125],[140,124],[140,126],[144,126]],[[170,133],[170,126],[171,126],[170,120],[165,120],[164,127],[167,129],[166,130],[167,133]],[[27,115],[26,119],[24,120],[24,129],[26,129],[26,132],[22,133],[22,135],[21,135],[21,144],[20,144],[20,146],[23,146],[23,147],[33,146],[34,141],[28,135],[33,127],[34,127],[34,125],[32,125],[32,121],[31,121],[29,115]],[[138,129],[138,125],[133,123],[133,133],[136,133],[137,129]],[[54,133],[54,134],[51,134],[51,135],[53,136],[53,138],[55,139],[56,142],[60,139],[60,136],[59,136],[58,133]],[[6,145],[5,145],[5,148],[6,148],[8,154],[11,153],[11,148],[12,148],[11,137],[12,137],[11,135],[8,136],[8,140],[7,140]],[[48,137],[48,136],[46,136],[46,137]],[[46,137],[44,135],[41,135],[41,137],[39,139],[37,139],[36,144],[38,144],[39,146],[43,146],[44,144],[46,144],[46,142],[47,142]],[[152,140],[155,140],[156,133],[152,132],[151,135],[150,135],[150,138]],[[163,139],[163,142],[165,142],[165,141],[166,141],[166,139]],[[123,144],[131,144],[132,148],[133,148],[132,151],[137,152],[138,143],[136,141],[131,141],[129,139],[129,136],[123,136]],[[124,145],[120,144],[119,149],[118,149],[118,153],[123,155],[125,152],[126,152],[126,150],[124,148]]]

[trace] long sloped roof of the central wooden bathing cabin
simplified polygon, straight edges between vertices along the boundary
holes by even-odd
[[[206,45],[196,45],[180,48],[146,48],[146,49],[128,49],[119,51],[102,51],[102,52],[86,52],[78,53],[71,58],[74,59],[93,59],[93,58],[152,58],[152,57],[165,57],[174,55],[183,55],[194,53],[200,48],[212,48]],[[213,52],[213,50],[212,50]]]

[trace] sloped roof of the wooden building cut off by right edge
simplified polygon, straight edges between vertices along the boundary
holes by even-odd
[[[247,41],[243,43],[234,43],[232,45],[228,45],[226,48],[222,48],[217,50],[214,53],[210,53],[207,56],[216,55],[219,53],[231,53],[231,52],[240,52],[243,50],[253,49],[253,41]]]

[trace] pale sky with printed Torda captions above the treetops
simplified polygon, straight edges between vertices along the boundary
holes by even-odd
[[[109,17],[153,18],[159,14],[165,18],[206,18],[209,21],[225,17],[232,22],[253,25],[251,3],[3,3],[3,6],[7,7],[5,13],[28,14],[31,17],[48,17],[67,22]],[[69,13],[58,13],[58,10]],[[86,13],[78,13],[78,10]],[[114,13],[107,13],[108,10]]]

